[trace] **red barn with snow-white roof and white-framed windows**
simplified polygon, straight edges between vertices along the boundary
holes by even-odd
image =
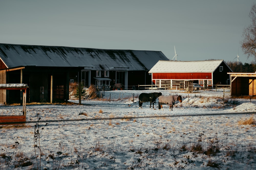
[[[193,83],[216,85],[230,84],[228,72],[233,72],[224,60],[163,61],[159,60],[149,71],[155,85]],[[184,86],[183,86],[184,87]]]

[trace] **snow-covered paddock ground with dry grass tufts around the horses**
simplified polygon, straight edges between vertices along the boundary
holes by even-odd
[[[154,104],[156,110],[149,109],[149,102],[138,109],[138,95],[152,92],[182,95],[183,101],[176,101],[173,111],[167,105],[158,110],[158,103]],[[238,123],[251,116],[255,119],[255,99],[233,99],[227,93],[223,98],[221,90],[101,93],[104,100],[85,99],[82,104],[78,100],[69,100],[76,104],[27,104],[25,127],[0,128],[0,169],[37,169],[37,165],[40,169],[256,166],[256,127]],[[22,114],[22,106],[0,108],[0,115]],[[34,137],[39,118],[40,144]],[[27,164],[22,167],[22,162]]]

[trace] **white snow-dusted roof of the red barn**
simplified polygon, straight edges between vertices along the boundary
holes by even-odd
[[[149,73],[212,73],[223,60],[208,61],[163,61],[159,60]],[[225,63],[226,64],[226,63]],[[226,64],[227,65],[227,64]],[[231,69],[230,69],[231,70]]]

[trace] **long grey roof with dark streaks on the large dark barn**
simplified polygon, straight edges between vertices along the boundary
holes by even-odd
[[[0,59],[7,68],[20,66],[80,66],[89,70],[150,70],[158,60],[168,60],[161,51],[1,43]]]

